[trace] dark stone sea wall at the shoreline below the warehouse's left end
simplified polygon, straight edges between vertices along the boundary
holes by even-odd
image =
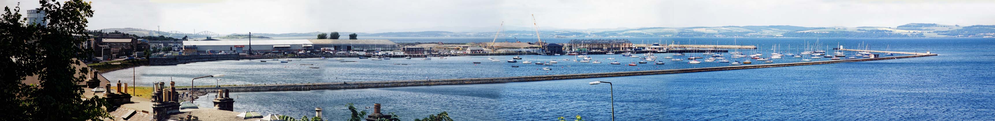
[[[193,56],[172,56],[163,58],[148,59],[151,65],[174,65],[189,61],[205,60],[239,60],[239,55],[193,55]]]

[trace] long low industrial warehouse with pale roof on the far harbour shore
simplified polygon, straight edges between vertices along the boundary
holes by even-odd
[[[187,54],[292,53],[292,52],[381,52],[397,51],[389,40],[255,40],[184,41]],[[196,52],[194,52],[196,51]]]

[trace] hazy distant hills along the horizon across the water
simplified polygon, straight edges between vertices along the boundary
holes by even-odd
[[[119,32],[139,36],[154,35],[156,31],[123,28],[103,29],[104,32]],[[263,34],[265,37],[314,37],[322,32]],[[394,32],[394,33],[355,33],[359,37],[494,37],[497,32]],[[342,37],[353,34],[339,32]],[[165,33],[163,33],[165,35]],[[247,35],[247,34],[233,34]],[[911,23],[892,27],[798,27],[798,26],[723,26],[723,27],[653,27],[617,28],[586,30],[542,30],[543,38],[629,38],[629,37],[744,37],[744,38],[982,38],[995,36],[995,25],[950,26],[939,24]],[[178,37],[177,37],[178,36]],[[535,31],[503,31],[501,37],[535,37]],[[167,35],[182,38],[183,35]],[[198,37],[192,37],[198,38]],[[202,37],[201,37],[202,38]]]

